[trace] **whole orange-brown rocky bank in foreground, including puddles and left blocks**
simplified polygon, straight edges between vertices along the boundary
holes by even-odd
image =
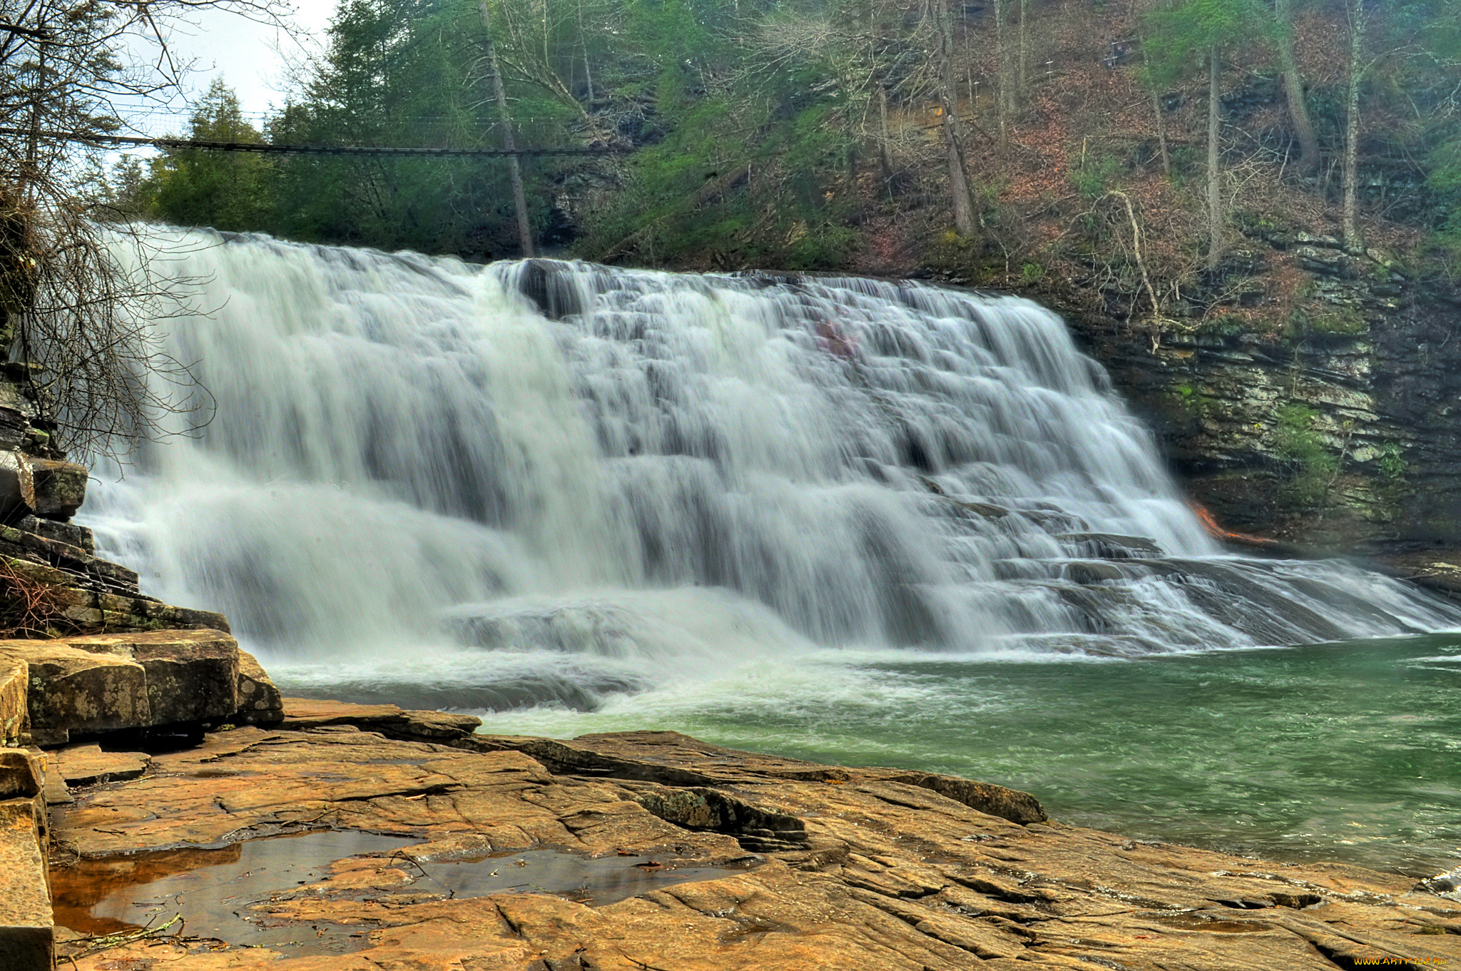
[[[26,650],[105,661],[77,695],[96,718],[126,695],[129,663],[143,694],[161,685],[159,663],[120,654],[169,654],[184,683],[194,667],[216,678],[231,641]],[[466,715],[275,702],[232,651],[245,661],[225,707],[256,724],[207,715],[10,749],[0,967],[44,968],[53,949],[82,971],[1461,961],[1445,880],[1132,841],[1001,786],[672,732],[484,736]],[[66,676],[26,663],[0,695],[54,702],[51,685],[80,683],[85,659],[69,657]]]

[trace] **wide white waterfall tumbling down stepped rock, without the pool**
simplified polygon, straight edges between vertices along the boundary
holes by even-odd
[[[83,520],[269,657],[430,669],[463,707],[592,705],[757,654],[1461,622],[1343,564],[1221,555],[1030,301],[155,234],[150,272],[193,286],[168,349],[216,415]]]

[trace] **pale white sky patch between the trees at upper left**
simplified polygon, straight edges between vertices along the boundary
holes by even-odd
[[[323,39],[337,0],[294,0],[292,6],[298,39],[225,10],[205,9],[191,25],[175,25],[169,37],[172,57],[193,61],[194,67],[186,77],[186,98],[196,99],[215,77],[222,77],[256,126],[270,107],[282,105],[289,91],[288,63],[304,55],[301,39],[305,45]],[[187,131],[188,105],[183,99],[168,108],[148,107],[129,114],[150,136]]]

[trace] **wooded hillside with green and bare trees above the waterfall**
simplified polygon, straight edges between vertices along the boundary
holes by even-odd
[[[1240,310],[1265,231],[1449,277],[1458,67],[1443,0],[343,0],[262,128],[215,83],[178,134],[615,152],[169,150],[104,193],[468,260],[932,276],[1160,333]]]

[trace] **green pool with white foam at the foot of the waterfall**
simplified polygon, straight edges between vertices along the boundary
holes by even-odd
[[[824,651],[485,720],[954,772],[1065,822],[1280,860],[1461,861],[1461,635],[1138,660]]]

